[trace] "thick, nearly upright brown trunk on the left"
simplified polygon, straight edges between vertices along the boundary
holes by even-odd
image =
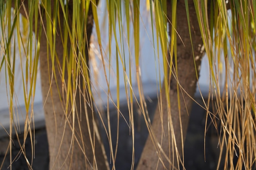
[[[53,4],[54,0],[52,0],[52,7]],[[70,13],[72,14],[72,12]],[[60,15],[60,21],[56,21],[56,23],[60,22],[62,26],[63,20],[63,16]],[[87,24],[88,41],[92,32],[92,20],[92,9],[90,8]],[[43,24],[46,28],[45,16]],[[78,85],[81,90],[78,88],[76,94],[76,110],[74,115],[70,114],[72,110],[65,110],[65,91],[64,94],[59,94],[62,93],[63,89],[61,73],[59,72],[63,63],[63,44],[61,40],[63,28],[60,29],[57,26],[56,31],[56,56],[59,63],[56,62],[57,60],[52,63],[51,58],[47,58],[47,38],[44,31],[42,31],[40,40],[40,73],[45,124],[49,142],[49,168],[51,170],[108,170],[108,162],[106,161],[105,150],[100,139],[96,116],[92,112],[92,106],[87,104],[90,102],[83,99],[83,97],[90,99],[90,96],[83,96],[82,77]],[[88,61],[88,51],[86,61]],[[56,71],[56,78],[53,76],[51,79],[52,65],[54,65]],[[65,82],[67,83],[67,77],[65,77]],[[85,94],[88,93],[85,92]],[[74,134],[72,132],[73,124]]]

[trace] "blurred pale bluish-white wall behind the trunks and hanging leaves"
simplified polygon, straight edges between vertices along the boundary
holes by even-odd
[[[144,2],[142,1],[141,4],[144,4]],[[101,14],[99,16],[99,20],[100,20],[100,24],[101,27],[103,27],[104,23],[103,21],[106,21],[106,18],[103,18],[103,16],[106,15],[106,9],[102,8],[104,5],[99,5],[99,14]],[[149,96],[153,96],[156,94],[156,86],[157,86],[157,81],[159,80],[159,73],[160,75],[162,75],[163,70],[162,68],[159,68],[159,63],[162,63],[162,56],[159,56],[159,60],[157,59],[157,55],[156,55],[156,60],[155,60],[155,55],[154,55],[154,48],[156,49],[156,46],[153,47],[153,38],[152,38],[152,30],[151,30],[151,23],[150,23],[150,15],[148,15],[149,11],[146,10],[146,7],[141,7],[141,25],[140,25],[140,41],[141,41],[141,45],[140,45],[140,68],[141,68],[141,80],[144,84],[144,92],[145,95],[149,95]],[[123,27],[126,28],[126,23],[123,23]],[[106,28],[106,26],[105,26]],[[109,55],[108,55],[108,29],[102,29],[101,31],[101,38],[103,40],[103,49],[106,52],[106,55],[103,56],[103,58],[105,59],[106,62],[106,67],[108,68],[109,66]],[[124,29],[126,30],[126,29]],[[131,35],[131,40],[132,40],[132,36],[133,36],[133,31],[132,31],[132,25],[130,26],[130,35]],[[119,33],[117,33],[119,35]],[[154,34],[154,38],[156,38],[156,35]],[[125,38],[124,38],[125,39]],[[103,71],[103,66],[102,66],[102,62],[101,62],[101,55],[99,53],[99,48],[97,47],[97,35],[95,33],[95,30],[93,32],[92,35],[92,42],[94,44],[91,44],[91,49],[93,49],[94,51],[91,51],[92,57],[91,57],[91,63],[90,63],[90,68],[92,71],[92,83],[95,89],[93,89],[95,96],[98,96],[99,93],[97,93],[97,91],[100,91],[100,96],[98,96],[98,98],[96,99],[98,104],[102,104],[106,102],[106,93],[104,91],[107,91],[108,87],[106,84],[106,79],[105,79],[105,75],[104,75],[104,71]],[[133,42],[130,42],[130,44],[132,44]],[[156,40],[155,40],[156,43]],[[14,43],[13,43],[14,44]],[[155,44],[156,45],[156,44]],[[18,48],[16,46],[16,48]],[[112,49],[115,49],[115,44],[112,43]],[[134,53],[132,51],[133,49],[131,49],[131,56],[134,56]],[[16,50],[18,51],[18,49]],[[125,48],[125,60],[126,63],[128,63],[129,61],[129,49],[126,46]],[[2,60],[2,54],[0,55],[1,60]],[[93,57],[94,56],[94,57]],[[111,69],[110,69],[110,77],[108,76],[108,78],[110,78],[110,89],[111,89],[111,93],[113,95],[113,98],[115,99],[115,93],[116,93],[116,85],[117,85],[117,81],[116,81],[116,60],[115,60],[115,51],[112,51],[112,62],[111,62]],[[24,66],[26,58],[22,57],[22,63]],[[208,66],[207,66],[207,58],[204,57],[203,62],[202,62],[202,71],[200,73],[200,86],[201,86],[201,90],[204,92],[208,91],[208,84],[209,84],[209,71],[208,71]],[[20,106],[24,105],[24,93],[23,93],[23,89],[22,89],[22,78],[21,78],[21,66],[20,66],[20,58],[17,57],[16,58],[16,73],[15,73],[15,92],[16,92],[16,101],[17,104],[19,104]],[[120,71],[120,88],[121,91],[124,91],[124,75],[122,74],[123,72],[123,68],[121,68],[121,62],[119,60],[119,71]],[[127,68],[129,67],[129,65],[127,65]],[[136,82],[136,77],[135,77],[135,61],[134,59],[131,61],[131,67],[133,68],[133,72],[132,72],[132,84],[135,86],[137,85]],[[23,69],[24,70],[24,69]],[[108,73],[108,69],[106,70]],[[39,71],[38,71],[39,73]],[[8,77],[7,77],[7,84],[8,84]],[[159,85],[159,84],[158,84]],[[7,91],[9,91],[9,87],[6,86],[6,80],[5,80],[5,71],[4,69],[1,70],[0,73],[0,110],[8,108],[8,98],[7,98]],[[135,89],[135,93],[136,93],[136,89]],[[122,94],[120,99],[126,99],[125,95]],[[40,89],[40,75],[38,74],[38,79],[37,79],[37,86],[36,86],[36,95],[35,95],[35,103],[40,103],[42,102],[42,97],[41,97],[41,89]]]

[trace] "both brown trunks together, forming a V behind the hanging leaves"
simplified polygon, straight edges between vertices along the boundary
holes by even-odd
[[[52,0],[52,2],[54,1]],[[91,12],[90,15],[92,16]],[[152,127],[158,144],[148,137],[137,166],[138,170],[173,169],[173,163],[177,167],[176,152],[171,142],[173,136],[169,133],[170,120],[168,118],[170,114],[177,142],[177,152],[181,157],[179,159],[182,159],[182,143],[185,140],[189,112],[192,105],[192,99],[188,95],[193,97],[195,93],[197,82],[195,70],[199,71],[203,53],[203,43],[194,5],[189,4],[193,47],[191,47],[185,6],[181,0],[177,2],[177,16],[179,16],[177,20],[177,32],[181,36],[182,41],[177,38],[177,65],[174,66],[174,68],[177,67],[177,79],[183,89],[177,89],[177,82],[174,76],[172,76],[169,84],[171,106],[168,106],[166,103],[165,88],[162,88],[162,103],[159,103],[157,107]],[[171,4],[168,4],[168,18],[171,20]],[[58,21],[56,23],[58,23]],[[60,23],[63,25],[63,16],[60,16]],[[46,26],[45,18],[43,18],[43,24]],[[59,30],[57,26],[56,31],[58,32],[56,36],[58,63],[57,60],[52,63],[51,59],[47,58],[47,38],[44,32],[42,32],[40,41],[40,73],[45,122],[49,142],[49,168],[51,170],[107,170],[109,169],[108,163],[106,162],[106,155],[99,137],[96,117],[94,117],[90,106],[85,104],[86,101],[83,101],[83,97],[79,95],[83,92],[77,91],[77,107],[75,114],[72,115],[70,114],[71,110],[67,110],[68,114],[65,115],[65,93],[64,95],[62,93],[60,94],[60,92],[62,92],[63,82],[61,81],[61,74],[59,72],[63,61],[63,44],[60,35],[61,31],[63,33],[63,30]],[[92,22],[87,26],[88,39],[90,39],[91,31]],[[192,48],[194,49],[195,61]],[[56,77],[54,77],[55,75],[52,77],[52,65],[55,67]],[[174,68],[173,72],[175,72]],[[81,82],[79,86],[82,87]],[[177,90],[180,91],[180,110],[178,106]],[[184,91],[186,91],[186,93],[184,93]],[[82,100],[79,97],[81,97]],[[89,96],[84,97],[85,99],[90,98]],[[161,106],[163,111],[162,117],[160,116],[159,110]],[[171,108],[171,113],[168,113],[168,107]],[[89,125],[87,122],[89,122]],[[73,123],[74,131],[71,130]]]

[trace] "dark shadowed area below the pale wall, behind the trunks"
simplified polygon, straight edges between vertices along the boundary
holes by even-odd
[[[153,113],[156,107],[157,99],[147,101],[148,112],[150,117],[153,117]],[[134,106],[135,115],[135,166],[139,161],[140,154],[142,152],[144,143],[148,136],[147,128],[143,123],[143,117],[137,114],[138,107]],[[127,106],[121,107],[121,113],[128,121],[128,108]],[[186,143],[184,148],[185,167],[186,170],[214,170],[218,161],[218,136],[213,126],[209,126],[206,134],[205,153],[204,159],[204,127],[205,127],[206,111],[200,106],[194,104],[191,112],[191,119],[188,128],[188,134],[186,137]],[[110,110],[111,129],[113,135],[113,144],[116,144],[116,129],[117,129],[117,111],[115,109]],[[129,122],[129,121],[128,121]],[[47,170],[49,157],[48,157],[48,144],[45,129],[36,130],[35,133],[35,158],[33,159],[34,170]],[[105,134],[105,132],[103,132]],[[22,140],[23,135],[20,135]],[[102,135],[102,139],[105,144],[107,156],[109,159],[109,145],[106,135]],[[2,163],[5,150],[7,149],[9,139],[0,139],[0,163]],[[28,160],[31,160],[31,144],[27,141],[26,155]],[[115,148],[115,146],[113,147]],[[130,136],[130,130],[123,118],[120,117],[119,124],[119,144],[117,151],[116,169],[117,170],[130,170],[132,159],[132,137]],[[12,146],[12,159],[16,159],[12,163],[12,170],[28,170],[26,160],[22,154],[20,154],[20,146],[18,146],[17,139],[13,139]],[[110,159],[109,159],[110,160]],[[2,170],[7,170],[10,165],[10,155],[7,154],[5,161],[2,164]],[[111,165],[110,165],[111,166]],[[222,168],[220,168],[222,169]]]

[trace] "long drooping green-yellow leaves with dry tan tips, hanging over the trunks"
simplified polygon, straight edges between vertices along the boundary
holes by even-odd
[[[56,77],[56,74],[61,73],[63,87],[59,88],[60,98],[63,93],[66,97],[66,112],[68,108],[75,107],[75,97],[77,95],[77,88],[80,76],[83,77],[83,88],[90,90],[90,70],[88,69],[88,61],[85,55],[88,55],[89,43],[87,38],[86,24],[92,22],[88,19],[88,11],[90,3],[92,4],[92,14],[94,18],[95,30],[97,33],[97,40],[99,44],[99,51],[101,57],[106,56],[101,43],[101,28],[99,26],[99,18],[97,11],[97,0],[81,0],[69,1],[72,8],[76,10],[70,11],[68,5],[65,5],[63,0],[49,1],[49,0],[28,0],[28,11],[25,9],[24,1],[16,0],[12,2],[0,2],[0,22],[1,22],[1,53],[0,53],[0,70],[6,73],[7,95],[9,96],[9,110],[10,110],[10,131],[12,134],[13,124],[15,124],[15,91],[14,84],[16,74],[15,61],[17,53],[25,57],[25,72],[22,72],[22,89],[24,92],[25,106],[27,109],[27,116],[25,119],[25,136],[33,133],[33,100],[36,86],[36,75],[38,70],[39,60],[39,46],[40,34],[45,34],[48,40],[47,53],[49,61],[58,65],[58,70],[54,67],[52,75],[49,75],[49,81]],[[153,44],[157,46],[155,49],[155,56],[162,56],[164,68],[164,75],[171,75],[173,64],[167,61],[168,53],[171,56],[177,57],[177,31],[175,25],[177,22],[177,0],[172,0],[172,9],[166,9],[166,0],[151,0],[146,1],[150,11],[152,34],[155,30],[157,37],[153,37]],[[192,1],[184,0],[186,7],[186,15],[189,18],[189,3]],[[255,35],[256,35],[256,1],[254,0],[194,0],[193,1],[197,20],[200,26],[202,40],[204,42],[204,50],[209,61],[210,72],[210,88],[208,101],[204,102],[204,108],[207,110],[207,117],[210,117],[215,124],[216,120],[221,124],[220,129],[220,159],[225,157],[226,168],[231,169],[251,169],[255,164],[256,158],[256,67],[255,67]],[[210,6],[208,5],[210,3]],[[108,40],[109,44],[115,42],[115,49],[109,46],[108,61],[117,61],[117,102],[115,104],[119,110],[119,75],[123,74],[126,84],[127,103],[130,108],[130,124],[133,129],[133,113],[132,103],[134,102],[134,93],[132,88],[132,71],[130,64],[126,64],[124,58],[129,57],[135,60],[136,66],[136,80],[139,91],[139,98],[135,98],[141,108],[145,121],[149,122],[146,114],[145,99],[143,95],[141,75],[139,72],[139,57],[140,57],[140,36],[139,28],[140,22],[140,6],[139,0],[109,0],[106,2],[108,11]],[[12,8],[13,7],[13,8]],[[210,9],[209,9],[210,7]],[[230,8],[230,11],[227,9]],[[172,11],[172,18],[167,18],[167,10]],[[211,10],[210,16],[207,13]],[[20,11],[23,11],[23,24],[20,25]],[[70,15],[70,12],[72,15]],[[46,25],[42,24],[42,15],[46,15]],[[63,16],[64,22],[58,23],[59,18]],[[70,20],[68,17],[72,16]],[[34,18],[39,18],[38,20]],[[155,20],[155,21],[154,21]],[[71,21],[71,22],[70,22]],[[126,21],[126,30],[124,31],[123,21]],[[26,24],[26,22],[28,24]],[[167,22],[170,22],[171,38],[168,39]],[[188,23],[190,20],[188,19]],[[33,24],[32,24],[33,23]],[[130,24],[133,26],[133,35],[130,35]],[[190,24],[189,24],[190,25]],[[27,26],[25,29],[24,26]],[[60,65],[58,57],[56,57],[55,40],[58,36],[56,27],[62,27],[62,44],[63,62]],[[72,28],[72,29],[71,29]],[[189,27],[190,32],[193,28]],[[118,35],[119,34],[119,35]],[[124,38],[124,34],[126,39]],[[25,36],[24,36],[25,35]],[[120,40],[117,39],[117,35]],[[11,44],[13,39],[17,39],[18,44]],[[69,48],[69,43],[71,48]],[[131,47],[134,46],[133,48]],[[191,39],[191,44],[193,40]],[[129,49],[134,49],[134,55],[131,53],[124,53],[124,46],[129,46]],[[16,48],[17,47],[17,48]],[[86,47],[87,49],[85,49]],[[14,51],[12,51],[14,49]],[[35,51],[32,51],[35,49]],[[116,56],[112,59],[112,51],[115,51]],[[20,57],[20,60],[23,58]],[[109,88],[109,72],[107,71],[106,60],[102,58],[102,65],[106,82]],[[130,61],[130,60],[129,60]],[[173,60],[175,61],[175,60]],[[121,65],[119,64],[121,63]],[[110,64],[109,64],[110,65]],[[23,67],[23,66],[22,66]],[[123,70],[119,73],[119,68]],[[23,69],[22,69],[23,70]],[[222,75],[222,76],[220,76]],[[7,78],[9,77],[9,78]],[[67,77],[67,81],[65,81]],[[169,76],[163,77],[163,88],[166,89],[166,96],[168,96],[168,79]],[[162,78],[159,78],[159,81]],[[220,86],[220,82],[224,80],[224,86]],[[157,90],[157,89],[156,89]],[[112,101],[110,90],[108,90],[108,101]],[[203,98],[203,97],[202,97]],[[216,113],[209,112],[209,103],[211,99],[215,99]],[[93,105],[93,97],[90,99],[90,105]],[[171,102],[167,97],[167,104],[171,106]],[[31,108],[31,110],[29,110]],[[109,109],[109,102],[107,108]],[[67,114],[67,113],[66,113]],[[217,125],[216,125],[217,126]],[[16,127],[16,126],[14,126]],[[105,127],[106,128],[106,127]],[[110,125],[109,127],[110,128]],[[106,128],[107,129],[107,128]],[[17,128],[14,128],[18,134]],[[148,130],[150,131],[150,123],[148,123]],[[107,130],[106,130],[107,131]],[[134,140],[134,131],[132,136]],[[172,132],[174,134],[174,132]],[[30,135],[32,136],[32,135]],[[109,138],[110,139],[110,138]],[[110,139],[111,140],[111,139]],[[32,139],[31,139],[32,141]],[[110,141],[111,143],[111,141]],[[222,151],[225,150],[225,154]],[[11,150],[11,135],[10,135],[10,150]],[[23,150],[23,152],[25,152]],[[112,150],[112,153],[115,153]],[[238,157],[238,163],[233,164],[233,157]],[[115,156],[113,156],[115,157]],[[220,162],[220,161],[219,161]]]

